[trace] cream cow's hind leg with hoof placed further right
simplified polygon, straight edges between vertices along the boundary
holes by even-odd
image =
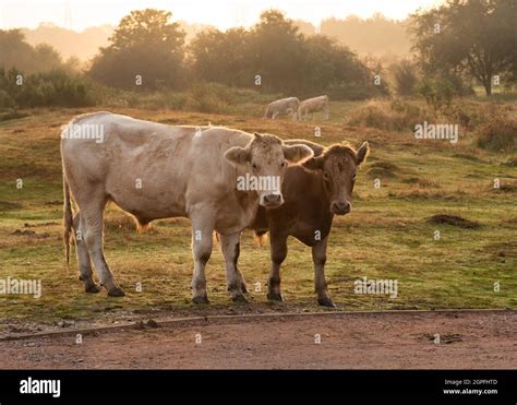
[[[89,257],[94,262],[95,270],[99,277],[100,284],[108,290],[110,297],[123,297],[124,291],[119,287],[115,281],[113,274],[106,263],[103,249],[103,228],[104,228],[104,207],[106,206],[106,199],[104,195],[95,195],[92,193],[91,200],[81,205],[80,228],[83,230],[83,238],[86,242]]]

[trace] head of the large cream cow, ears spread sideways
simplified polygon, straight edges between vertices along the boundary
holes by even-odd
[[[245,176],[238,178],[239,190],[256,191],[261,205],[275,207],[284,203],[281,183],[288,162],[297,163],[312,155],[306,145],[285,145],[277,136],[255,132],[245,147],[230,147],[225,158],[244,168]]]

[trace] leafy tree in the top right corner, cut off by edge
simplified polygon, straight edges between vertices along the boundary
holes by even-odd
[[[468,72],[492,94],[494,75],[517,69],[514,0],[448,0],[411,16],[413,49],[424,72]]]

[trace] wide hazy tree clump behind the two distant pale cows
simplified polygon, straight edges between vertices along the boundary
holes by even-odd
[[[189,47],[197,80],[309,97],[365,98],[384,94],[357,55],[324,35],[304,37],[278,11],[262,13],[250,29],[206,29]]]

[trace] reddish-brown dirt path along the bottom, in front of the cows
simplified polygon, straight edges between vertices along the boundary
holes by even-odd
[[[435,344],[435,334],[441,343]],[[321,343],[315,341],[321,338]],[[200,342],[201,338],[201,342]],[[197,340],[197,343],[196,343]],[[0,342],[0,368],[517,368],[517,314],[324,313]]]

